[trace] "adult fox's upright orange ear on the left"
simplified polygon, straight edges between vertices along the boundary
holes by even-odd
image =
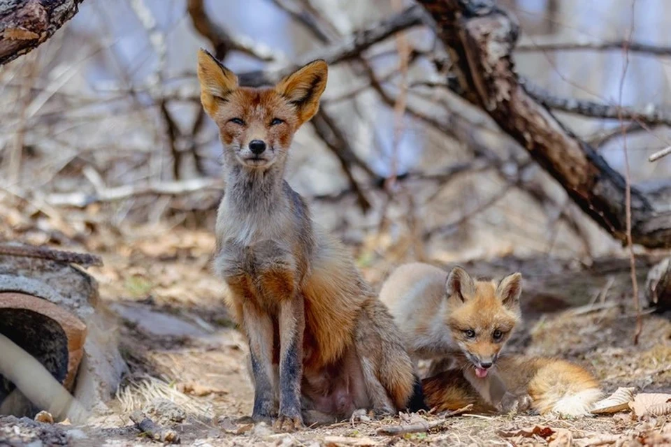
[[[238,88],[235,73],[202,48],[198,51],[198,80],[201,83],[201,103],[210,117],[217,112],[217,100],[226,101]]]

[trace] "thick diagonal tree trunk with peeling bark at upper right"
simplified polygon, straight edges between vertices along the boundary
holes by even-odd
[[[625,180],[526,93],[512,60],[517,22],[493,0],[418,2],[431,13],[452,59],[454,91],[489,113],[586,214],[626,241]],[[671,247],[671,205],[658,196],[631,190],[632,238],[645,247]]]

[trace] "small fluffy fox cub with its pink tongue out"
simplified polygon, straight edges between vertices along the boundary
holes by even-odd
[[[430,375],[449,367],[488,402],[504,411],[526,396],[508,392],[495,365],[519,321],[521,274],[500,282],[475,281],[462,268],[401,265],[384,282],[380,300],[389,307],[414,360],[433,360]]]

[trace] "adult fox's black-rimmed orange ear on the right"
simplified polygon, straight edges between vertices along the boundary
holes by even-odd
[[[315,116],[319,110],[319,97],[326,89],[329,66],[317,59],[291,73],[275,85],[275,91],[296,106],[298,125]]]

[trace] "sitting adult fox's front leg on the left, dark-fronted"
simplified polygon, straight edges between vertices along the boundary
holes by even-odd
[[[257,305],[247,302],[243,305],[243,322],[254,379],[252,419],[270,423],[277,414],[273,390],[273,321]]]

